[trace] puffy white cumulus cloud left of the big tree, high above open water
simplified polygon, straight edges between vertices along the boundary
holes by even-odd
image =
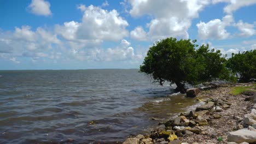
[[[84,10],[82,23],[78,27],[78,39],[120,40],[128,36],[128,22],[117,10],[107,11],[90,5]]]

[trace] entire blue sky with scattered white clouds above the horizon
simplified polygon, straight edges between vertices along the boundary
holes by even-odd
[[[0,70],[139,68],[168,37],[256,49],[256,0],[2,0]]]

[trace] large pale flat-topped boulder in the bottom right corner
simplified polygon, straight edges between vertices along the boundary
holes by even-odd
[[[236,143],[241,143],[241,142],[254,143],[256,142],[256,131],[248,130],[248,129],[240,129],[237,131],[232,131],[228,135],[228,140]]]

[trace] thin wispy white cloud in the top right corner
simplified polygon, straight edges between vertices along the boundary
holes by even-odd
[[[256,4],[256,0],[213,0],[213,4],[219,3],[219,2],[225,2],[229,3],[224,8],[225,13],[232,14],[237,9],[240,9],[241,7],[246,7],[249,5]]]

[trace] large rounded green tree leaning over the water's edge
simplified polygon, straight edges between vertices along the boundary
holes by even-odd
[[[184,92],[184,83],[197,85],[217,78],[230,79],[220,51],[210,51],[208,45],[196,50],[195,42],[176,38],[157,41],[149,48],[140,71],[152,76],[160,85],[165,81],[176,83],[181,92]]]

